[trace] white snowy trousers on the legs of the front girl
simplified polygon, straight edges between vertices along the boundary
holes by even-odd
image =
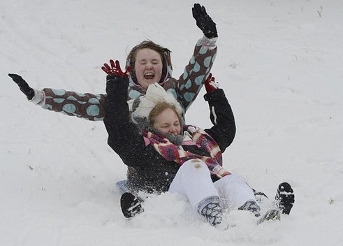
[[[246,201],[256,202],[254,192],[240,175],[231,174],[212,182],[206,164],[198,159],[182,164],[168,191],[186,196],[195,210],[211,196],[219,197],[221,205],[231,209],[240,208]]]

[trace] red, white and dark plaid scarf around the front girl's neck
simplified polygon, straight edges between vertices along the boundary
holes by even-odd
[[[183,130],[184,133],[188,133],[187,135],[190,136],[192,144],[196,144],[206,150],[210,154],[210,157],[185,151],[171,143],[166,136],[161,134],[144,131],[143,136],[145,137],[145,143],[152,144],[155,150],[167,161],[175,161],[177,164],[182,165],[190,159],[200,159],[205,162],[210,172],[217,175],[218,178],[231,174],[222,168],[223,159],[221,150],[217,142],[208,133],[203,129],[191,125],[184,125]]]

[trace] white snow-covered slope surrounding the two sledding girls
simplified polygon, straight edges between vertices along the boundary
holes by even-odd
[[[203,0],[217,22],[212,69],[238,127],[224,166],[275,196],[295,191],[291,215],[256,226],[233,211],[223,231],[182,197],[152,196],[131,221],[115,182],[126,166],[103,122],[29,103],[31,87],[105,92],[103,63],[151,39],[173,51],[173,76],[203,34],[194,1],[0,1],[0,245],[342,245],[343,1]],[[210,127],[201,90],[187,123]],[[128,150],[130,151],[130,150]],[[265,203],[268,204],[268,203]]]

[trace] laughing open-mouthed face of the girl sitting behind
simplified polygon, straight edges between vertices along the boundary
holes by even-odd
[[[134,66],[136,78],[144,89],[161,80],[163,64],[158,52],[148,48],[138,50]]]

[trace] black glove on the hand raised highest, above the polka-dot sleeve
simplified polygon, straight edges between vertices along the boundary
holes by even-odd
[[[210,15],[207,15],[204,6],[200,6],[199,3],[194,3],[194,7],[191,9],[193,17],[196,19],[196,25],[203,31],[207,38],[217,38],[216,24],[211,19]]]

